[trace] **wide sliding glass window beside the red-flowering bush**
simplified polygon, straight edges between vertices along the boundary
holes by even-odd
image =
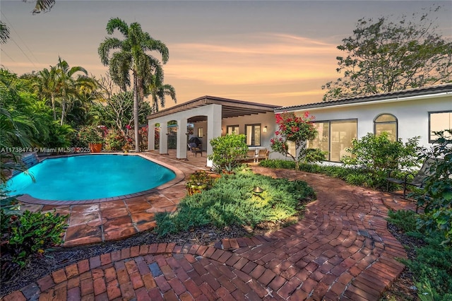
[[[308,141],[308,148],[320,148],[328,152],[328,161],[340,162],[343,155],[350,155],[345,149],[357,138],[357,124],[357,119],[314,122],[319,134]]]

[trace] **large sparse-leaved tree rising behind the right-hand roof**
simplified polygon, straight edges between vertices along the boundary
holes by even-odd
[[[343,77],[322,86],[327,90],[323,100],[452,81],[452,42],[436,33],[437,26],[427,18],[434,11],[414,14],[411,20],[359,19],[353,35],[337,47],[347,53],[336,58]]]

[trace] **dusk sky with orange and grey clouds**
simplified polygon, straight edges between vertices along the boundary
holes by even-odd
[[[35,2],[0,1],[11,39],[1,65],[21,75],[57,64],[83,66],[105,75],[97,47],[110,18],[138,22],[165,42],[165,83],[177,102],[203,95],[273,105],[319,102],[321,85],[340,77],[336,47],[352,35],[359,18],[410,16],[442,6],[432,15],[438,33],[452,37],[452,1],[64,1],[32,16]],[[115,35],[121,37],[121,35]],[[160,58],[160,57],[159,57]],[[167,98],[167,106],[172,106]]]

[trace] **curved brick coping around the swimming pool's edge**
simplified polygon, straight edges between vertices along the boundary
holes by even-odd
[[[37,204],[37,205],[55,205],[55,206],[62,206],[62,205],[83,205],[83,204],[90,204],[90,203],[103,203],[103,202],[107,202],[107,201],[119,201],[119,200],[126,200],[126,199],[132,199],[132,198],[136,198],[138,196],[144,196],[146,194],[152,194],[152,193],[156,193],[158,191],[161,191],[162,189],[167,189],[169,187],[174,186],[175,184],[183,181],[185,179],[185,175],[184,172],[182,172],[182,170],[179,170],[179,168],[174,167],[173,165],[169,165],[167,163],[164,163],[160,160],[155,160],[155,158],[150,158],[146,155],[143,155],[141,153],[76,153],[76,154],[71,154],[71,155],[54,155],[54,156],[49,156],[47,158],[43,158],[42,160],[40,160],[40,162],[42,162],[43,160],[47,160],[47,159],[54,159],[54,158],[64,158],[64,157],[73,157],[73,156],[78,156],[78,155],[138,155],[141,158],[145,159],[145,160],[149,160],[155,164],[161,165],[163,167],[166,167],[167,169],[171,170],[172,172],[174,172],[174,174],[176,175],[176,177],[174,177],[174,179],[172,179],[169,182],[166,182],[165,184],[162,184],[158,187],[154,187],[153,189],[148,189],[148,190],[144,190],[144,191],[139,191],[133,194],[124,194],[121,196],[111,196],[111,197],[107,197],[107,198],[102,198],[102,199],[87,199],[87,200],[80,200],[80,201],[61,201],[61,200],[45,200],[45,199],[37,199],[33,196],[30,196],[30,194],[23,194],[21,196],[16,197],[16,199],[18,199],[18,201],[24,202],[24,203],[32,203],[32,204]]]

